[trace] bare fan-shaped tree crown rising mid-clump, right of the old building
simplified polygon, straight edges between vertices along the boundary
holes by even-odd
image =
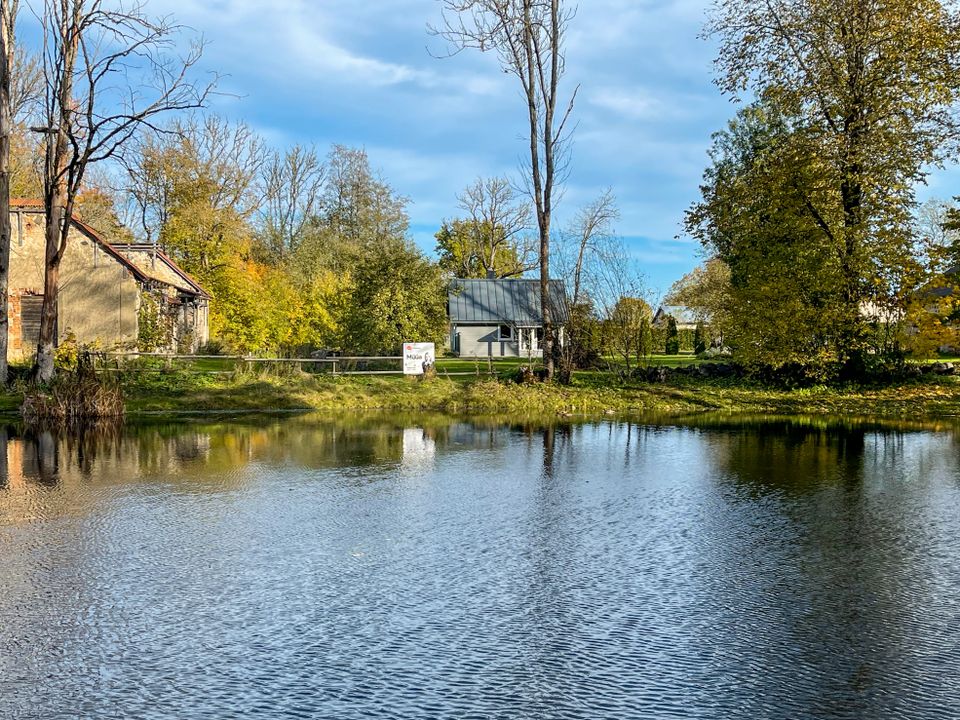
[[[274,257],[283,258],[297,249],[307,224],[319,210],[325,176],[323,161],[312,147],[295,145],[267,159],[260,235]]]

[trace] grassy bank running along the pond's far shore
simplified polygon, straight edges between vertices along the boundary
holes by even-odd
[[[125,372],[130,415],[213,411],[389,410],[507,415],[848,415],[921,419],[960,417],[960,377],[926,376],[883,387],[783,390],[743,380],[675,377],[663,384],[619,383],[581,373],[570,386],[517,385],[484,374],[420,381],[396,376],[331,376],[287,371],[218,374],[184,370]],[[17,393],[0,395],[16,412]]]

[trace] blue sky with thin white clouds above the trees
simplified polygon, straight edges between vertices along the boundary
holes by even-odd
[[[150,0],[202,32],[206,69],[224,73],[217,112],[272,144],[363,146],[410,198],[412,231],[430,250],[456,195],[478,176],[517,177],[524,105],[490,54],[431,55],[437,0]],[[269,10],[265,10],[269,7]],[[566,88],[580,91],[570,175],[557,220],[610,187],[653,290],[699,260],[682,236],[710,133],[735,107],[712,84],[715,48],[697,35],[702,0],[582,0],[570,26]],[[923,195],[960,192],[940,173]]]

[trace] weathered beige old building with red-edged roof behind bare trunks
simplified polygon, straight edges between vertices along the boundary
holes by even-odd
[[[43,206],[11,201],[9,353],[36,352],[43,303]],[[209,339],[210,295],[150,246],[112,245],[78,217],[61,261],[58,341],[191,352]],[[149,330],[149,333],[145,332]],[[143,347],[144,342],[150,346]]]

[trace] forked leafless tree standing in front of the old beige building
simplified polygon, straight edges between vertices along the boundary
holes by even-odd
[[[174,51],[183,30],[150,18],[144,5],[102,0],[46,0],[44,209],[46,251],[40,340],[34,377],[53,377],[60,262],[87,166],[113,157],[159,116],[202,106],[213,83],[189,78],[202,42]]]

